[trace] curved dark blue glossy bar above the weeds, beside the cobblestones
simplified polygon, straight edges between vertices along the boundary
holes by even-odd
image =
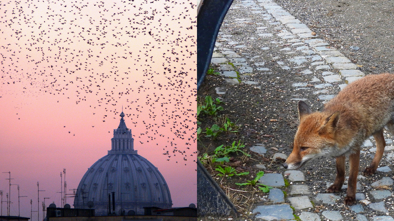
[[[197,15],[197,91],[208,71],[217,33],[233,0],[204,0]]]

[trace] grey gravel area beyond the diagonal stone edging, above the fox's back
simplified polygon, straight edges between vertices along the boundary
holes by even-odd
[[[275,0],[366,74],[394,68],[394,1]],[[300,7],[301,6],[301,7]],[[350,46],[358,46],[355,51]]]

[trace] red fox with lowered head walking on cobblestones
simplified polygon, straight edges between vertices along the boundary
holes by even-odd
[[[348,190],[344,204],[356,203],[360,147],[371,135],[376,140],[376,154],[363,175],[372,175],[385,149],[383,128],[394,135],[394,74],[363,77],[350,83],[325,104],[322,112],[312,112],[298,102],[299,126],[292,153],[284,162],[287,169],[298,169],[314,158],[336,158],[336,178],[328,193],[341,190],[345,179],[345,159],[349,156]]]

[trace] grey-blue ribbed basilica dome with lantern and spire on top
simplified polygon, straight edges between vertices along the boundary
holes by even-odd
[[[113,130],[112,149],[97,160],[82,177],[76,190],[74,208],[88,208],[93,202],[96,215],[110,210],[108,194],[115,193],[115,212],[121,209],[144,214],[143,207],[171,208],[171,195],[160,171],[134,150],[134,138],[120,114],[119,127]],[[112,201],[112,195],[111,195]],[[111,202],[112,209],[112,202]]]

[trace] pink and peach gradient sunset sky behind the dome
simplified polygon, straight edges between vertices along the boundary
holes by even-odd
[[[63,168],[68,193],[77,188],[111,149],[122,105],[134,149],[162,173],[173,206],[197,203],[195,5],[1,2],[0,172],[11,171],[11,184],[27,196],[21,216],[30,217],[30,199],[37,210],[37,181],[45,190],[40,219],[44,197],[46,206],[61,205]],[[7,178],[0,173],[3,201]],[[18,215],[17,196],[12,185],[11,215]]]

